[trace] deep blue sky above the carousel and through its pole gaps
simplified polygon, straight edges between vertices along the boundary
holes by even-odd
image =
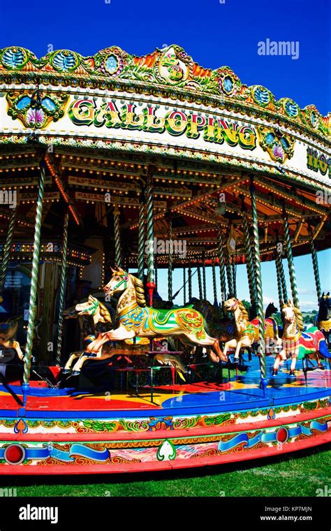
[[[242,82],[264,85],[277,99],[288,96],[301,107],[314,103],[326,115],[330,6],[330,0],[0,0],[0,48],[20,45],[41,57],[49,45],[83,55],[118,45],[139,55],[176,43],[202,66],[228,65]],[[298,59],[259,55],[258,42],[267,38],[297,42]],[[329,290],[330,251],[318,259],[323,289]],[[295,266],[302,309],[310,310],[316,299],[310,256],[296,258]],[[265,297],[276,302],[274,263],[263,263],[262,270]],[[245,266],[237,275],[239,294],[248,298]],[[177,277],[175,272],[175,290]],[[211,298],[211,275],[208,280]]]

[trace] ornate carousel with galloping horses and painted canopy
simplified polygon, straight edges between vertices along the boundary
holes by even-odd
[[[330,441],[329,139],[314,105],[177,45],[0,50],[1,474],[218,465]],[[263,261],[279,296],[266,310]]]

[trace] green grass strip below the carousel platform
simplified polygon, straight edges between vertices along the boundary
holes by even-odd
[[[331,446],[275,458],[154,474],[2,478],[17,496],[316,496],[331,486]]]

